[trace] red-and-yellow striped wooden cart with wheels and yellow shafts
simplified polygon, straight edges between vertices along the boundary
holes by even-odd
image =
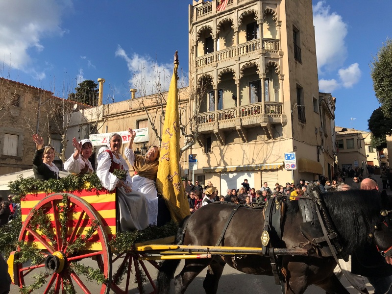
[[[143,284],[147,282],[153,294],[156,287],[145,262],[159,270],[155,260],[261,254],[262,249],[173,245],[172,236],[118,252],[109,246],[117,227],[114,192],[93,189],[72,194],[29,194],[21,207],[21,243],[11,252],[8,266],[13,283],[27,293],[92,293],[97,292],[97,285],[100,294],[110,289],[125,294],[135,287],[144,293]],[[285,251],[276,254],[306,254],[302,249],[275,250]],[[24,251],[29,253],[29,260],[23,259]]]

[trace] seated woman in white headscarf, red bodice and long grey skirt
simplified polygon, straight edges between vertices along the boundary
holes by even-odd
[[[97,175],[102,186],[112,191],[117,187],[117,198],[120,210],[120,230],[143,230],[148,225],[147,203],[144,195],[132,192],[132,178],[125,159],[120,154],[123,144],[122,138],[117,133],[108,136],[107,147],[102,147],[98,152]],[[128,171],[125,179],[119,179],[113,174],[114,170]]]

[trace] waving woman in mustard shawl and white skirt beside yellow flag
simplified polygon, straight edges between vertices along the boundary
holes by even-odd
[[[157,222],[158,217],[158,195],[156,191],[156,176],[159,164],[159,147],[152,146],[145,156],[135,154],[132,149],[136,132],[128,128],[131,135],[128,146],[125,147],[125,156],[129,164],[133,167],[135,175],[132,177],[133,190],[141,192],[146,196],[148,207],[148,222]]]

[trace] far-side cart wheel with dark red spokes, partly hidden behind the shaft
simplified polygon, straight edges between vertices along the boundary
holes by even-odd
[[[114,267],[117,268],[118,266],[118,270],[113,273],[110,284],[110,288],[114,293],[127,294],[128,290],[133,288],[130,283],[136,283],[139,293],[145,293],[146,291],[143,285],[145,282],[147,285],[149,283],[152,287],[152,292],[149,292],[149,294],[157,293],[154,280],[151,278],[145,262],[143,260],[138,260],[139,256],[143,256],[143,254],[126,252],[113,258]],[[147,260],[147,262],[155,269],[159,270],[159,265],[155,261]]]

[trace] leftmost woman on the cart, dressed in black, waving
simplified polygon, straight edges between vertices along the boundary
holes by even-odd
[[[59,169],[53,163],[55,152],[51,146],[44,147],[44,139],[33,135],[33,141],[37,147],[33,158],[33,172],[37,180],[58,179]]]

